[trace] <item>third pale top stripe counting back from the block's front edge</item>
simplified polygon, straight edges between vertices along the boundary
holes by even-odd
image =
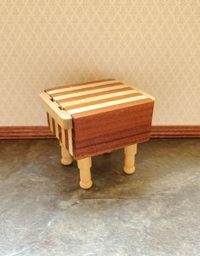
[[[122,88],[129,88],[129,85],[126,84],[120,84],[120,85],[114,85],[114,86],[108,86],[106,88],[100,88],[100,89],[94,89],[94,90],[86,90],[86,91],[81,91],[81,92],[75,92],[75,93],[71,93],[69,95],[65,94],[65,95],[60,95],[60,96],[54,96],[53,100],[54,102],[59,101],[59,100],[63,100],[63,99],[69,99],[72,97],[76,97],[76,96],[85,96],[88,94],[92,94],[92,93],[96,93],[96,92],[102,92],[102,91],[108,91],[108,90],[115,90],[115,89],[122,89]]]

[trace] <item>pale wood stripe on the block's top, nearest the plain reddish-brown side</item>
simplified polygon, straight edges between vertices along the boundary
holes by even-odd
[[[110,106],[114,106],[114,105],[118,105],[118,104],[123,104],[123,103],[127,103],[127,102],[135,102],[135,101],[139,101],[139,100],[144,100],[144,99],[147,99],[147,98],[148,97],[144,96],[144,95],[134,96],[134,97],[129,97],[129,98],[122,99],[122,100],[95,104],[95,105],[91,105],[91,106],[88,106],[88,107],[75,108],[75,109],[67,110],[67,112],[70,113],[70,114],[82,113],[82,112],[89,111],[89,110],[94,110],[94,109],[98,109],[98,108],[106,108],[106,107],[110,107]]]

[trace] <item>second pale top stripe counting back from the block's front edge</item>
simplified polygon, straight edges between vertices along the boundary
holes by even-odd
[[[77,100],[77,101],[73,101],[73,102],[63,102],[63,103],[60,103],[60,106],[62,108],[65,108],[65,107],[69,107],[69,106],[73,106],[73,105],[77,105],[77,104],[82,104],[82,103],[86,103],[86,102],[94,102],[94,101],[103,100],[103,99],[110,99],[112,97],[125,96],[125,95],[129,95],[132,93],[137,93],[137,92],[138,92],[137,90],[133,90],[133,89],[124,90],[124,91],[114,92],[114,93],[110,93],[110,94],[106,94],[106,95],[89,97],[89,98],[85,98],[83,100]]]

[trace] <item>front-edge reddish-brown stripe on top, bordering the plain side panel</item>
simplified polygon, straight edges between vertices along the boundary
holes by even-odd
[[[122,104],[117,104],[114,106],[109,106],[109,107],[105,107],[105,108],[97,108],[97,109],[93,109],[93,110],[88,110],[88,111],[84,111],[81,113],[73,113],[71,114],[72,118],[74,119],[78,119],[78,118],[83,118],[89,115],[94,115],[96,113],[105,113],[105,112],[110,112],[112,110],[117,110],[117,109],[121,109],[121,108],[129,108],[129,107],[133,107],[139,104],[144,104],[147,102],[153,102],[151,99],[144,99],[144,100],[138,100],[135,102],[126,102],[126,103],[122,103]]]

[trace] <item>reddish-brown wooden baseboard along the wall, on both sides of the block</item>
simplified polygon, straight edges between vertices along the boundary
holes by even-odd
[[[154,125],[151,138],[200,137],[200,125]],[[0,126],[0,139],[55,138],[48,126]]]

